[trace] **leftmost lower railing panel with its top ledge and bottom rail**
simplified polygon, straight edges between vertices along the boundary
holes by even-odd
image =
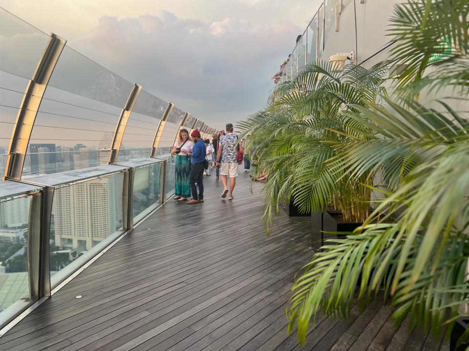
[[[32,194],[40,189],[9,180],[0,183],[0,326],[37,298],[30,292],[28,244]]]

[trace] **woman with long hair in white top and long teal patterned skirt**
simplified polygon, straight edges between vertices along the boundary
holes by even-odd
[[[174,200],[186,201],[191,196],[191,186],[189,185],[189,176],[191,174],[191,165],[189,164],[189,152],[192,150],[194,143],[189,137],[187,129],[181,129],[179,137],[174,143],[171,154],[176,154],[176,177]]]

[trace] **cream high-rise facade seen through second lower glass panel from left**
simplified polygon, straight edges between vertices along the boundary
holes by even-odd
[[[123,175],[102,177],[56,189],[55,245],[90,250],[122,226]]]

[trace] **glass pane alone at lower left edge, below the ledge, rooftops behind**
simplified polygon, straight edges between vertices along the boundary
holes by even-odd
[[[29,299],[28,226],[31,195],[0,199],[0,312]]]

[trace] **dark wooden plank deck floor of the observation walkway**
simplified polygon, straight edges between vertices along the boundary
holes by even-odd
[[[382,305],[320,319],[300,348],[285,304],[312,255],[310,219],[282,215],[267,238],[248,181],[241,170],[233,201],[214,176],[204,204],[171,200],[2,336],[0,350],[449,350],[396,330]]]

